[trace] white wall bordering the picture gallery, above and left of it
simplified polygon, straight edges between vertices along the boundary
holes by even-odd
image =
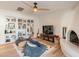
[[[5,24],[6,24],[6,18],[7,17],[16,17],[22,18],[22,19],[33,19],[34,20],[34,33],[37,34],[38,27],[39,27],[39,19],[38,17],[34,15],[27,15],[23,14],[22,12],[18,11],[8,11],[8,10],[2,10],[0,9],[0,43],[5,40]]]

